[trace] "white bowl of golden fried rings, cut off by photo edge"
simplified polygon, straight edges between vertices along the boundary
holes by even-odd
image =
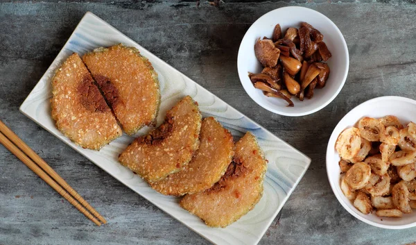
[[[416,226],[416,101],[370,99],[340,120],[327,146],[329,184],[345,210],[372,226]]]

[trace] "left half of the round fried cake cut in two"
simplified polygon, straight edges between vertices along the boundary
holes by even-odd
[[[56,71],[52,94],[52,118],[76,144],[99,150],[121,135],[120,126],[77,53]]]

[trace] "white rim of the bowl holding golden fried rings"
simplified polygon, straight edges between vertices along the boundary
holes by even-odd
[[[328,170],[329,169],[328,168],[329,164],[333,164],[333,161],[331,161],[330,158],[333,155],[331,153],[331,151],[333,151],[333,149],[335,147],[335,146],[331,145],[330,143],[333,142],[333,141],[336,141],[336,138],[338,138],[338,135],[336,135],[336,131],[341,127],[341,124],[343,123],[343,121],[347,120],[350,115],[354,114],[354,112],[356,112],[356,111],[361,110],[361,108],[363,108],[367,104],[376,103],[376,102],[379,102],[379,101],[393,101],[393,100],[403,101],[403,102],[407,102],[407,103],[413,103],[414,105],[416,105],[415,100],[409,99],[409,98],[406,98],[406,97],[380,96],[380,97],[376,97],[374,99],[369,99],[369,100],[357,105],[354,109],[350,110],[342,119],[340,119],[340,121],[335,126],[335,128],[333,128],[333,131],[331,133],[331,137],[329,137],[329,141],[328,141],[328,145],[327,145],[327,154],[326,154],[325,167],[327,168],[328,181],[329,181],[329,185],[331,186],[333,194],[335,194],[338,202],[343,206],[343,208],[345,208],[345,210],[347,210],[349,212],[349,214],[352,214],[352,216],[356,217],[357,219],[359,219],[359,220],[363,221],[364,223],[367,223],[371,226],[375,226],[375,227],[379,227],[379,228],[385,228],[385,229],[391,229],[391,230],[400,230],[400,229],[412,228],[412,227],[416,226],[416,221],[396,226],[396,225],[385,225],[385,224],[382,224],[382,223],[376,223],[374,221],[370,221],[370,220],[366,219],[365,217],[361,217],[360,215],[356,214],[356,212],[354,212],[354,210],[352,210],[352,208],[349,208],[349,206],[347,205],[347,203],[345,203],[345,201],[343,201],[343,198],[341,198],[340,194],[336,191],[335,184],[331,181],[331,176],[332,175],[331,175],[331,173],[329,173],[329,170]],[[358,121],[358,119],[357,119],[357,121]]]

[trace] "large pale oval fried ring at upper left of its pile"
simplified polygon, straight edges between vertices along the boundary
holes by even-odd
[[[361,150],[361,137],[358,128],[347,128],[338,136],[335,145],[341,158],[354,158]]]

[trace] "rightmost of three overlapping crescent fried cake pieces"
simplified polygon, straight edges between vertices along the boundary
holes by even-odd
[[[267,163],[251,133],[236,143],[234,160],[211,189],[184,196],[182,208],[208,226],[225,227],[254,208],[263,194]]]

